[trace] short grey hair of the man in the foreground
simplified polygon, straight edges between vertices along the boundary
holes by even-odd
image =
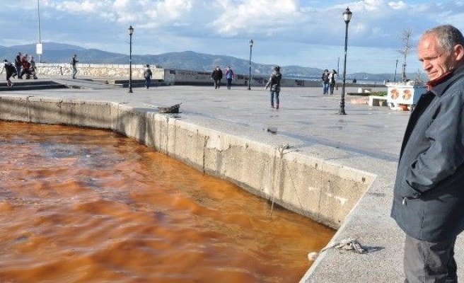
[[[439,47],[441,47],[441,50],[447,54],[451,54],[456,45],[464,46],[463,33],[461,33],[460,30],[455,28],[453,25],[439,25],[435,28],[426,30],[422,37],[424,37],[424,35],[435,35],[438,40]]]

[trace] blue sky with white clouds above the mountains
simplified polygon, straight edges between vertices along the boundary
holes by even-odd
[[[132,54],[192,50],[248,59],[253,39],[253,62],[324,69],[340,62],[342,70],[347,6],[348,74],[392,74],[396,59],[400,72],[405,29],[414,45],[408,72],[420,69],[415,45],[424,30],[451,23],[464,31],[464,0],[13,0],[1,4],[0,45],[37,43],[40,15],[42,42],[129,54],[132,25]]]

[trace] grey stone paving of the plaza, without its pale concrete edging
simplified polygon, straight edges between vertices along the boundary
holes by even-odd
[[[180,111],[185,116],[210,117],[256,130],[277,128],[277,134],[300,139],[306,144],[325,144],[395,161],[410,114],[387,107],[354,104],[354,100],[366,100],[366,97],[345,96],[347,115],[337,115],[341,87],[334,96],[323,96],[322,87],[283,88],[280,109],[277,110],[270,108],[269,91],[257,86],[252,86],[250,91],[246,86],[233,86],[231,90],[225,85],[218,90],[213,86],[158,86],[149,90],[133,88],[134,93],[129,94],[127,88],[61,78],[58,77],[59,82],[93,89],[55,89],[33,93],[37,96],[127,102],[155,110],[182,103]],[[357,90],[357,87],[351,87],[346,91],[356,93]],[[386,88],[372,88],[372,91],[386,91]],[[31,95],[31,91],[13,93]]]

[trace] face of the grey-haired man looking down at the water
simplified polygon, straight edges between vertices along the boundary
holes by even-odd
[[[424,35],[419,40],[417,57],[430,81],[438,79],[456,66],[454,53],[446,54],[441,50],[435,35]]]

